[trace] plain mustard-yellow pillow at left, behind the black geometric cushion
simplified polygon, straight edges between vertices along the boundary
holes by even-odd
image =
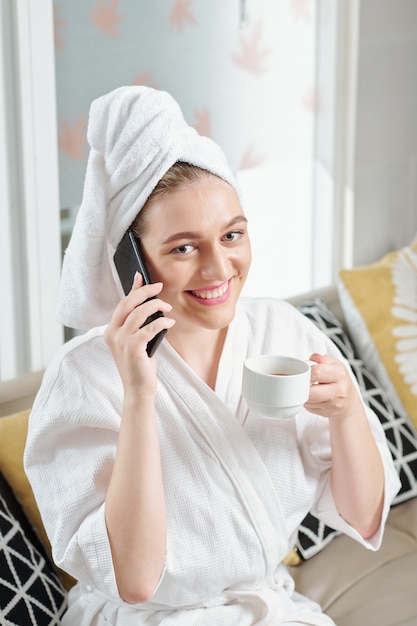
[[[50,555],[51,545],[32,488],[23,469],[29,414],[30,410],[0,418],[0,471],[13,489],[41,543]],[[69,589],[74,584],[74,580],[61,570],[59,573],[63,584]]]

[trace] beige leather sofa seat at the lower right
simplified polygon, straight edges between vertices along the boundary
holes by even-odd
[[[414,626],[417,530],[410,529],[417,529],[417,499],[391,509],[376,552],[341,535],[291,568],[297,591],[318,602],[338,626]]]

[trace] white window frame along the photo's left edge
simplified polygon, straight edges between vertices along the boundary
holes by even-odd
[[[0,3],[0,374],[41,369],[62,343],[51,3]]]

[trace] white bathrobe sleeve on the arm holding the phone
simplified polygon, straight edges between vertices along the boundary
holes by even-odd
[[[120,398],[101,330],[69,342],[44,376],[30,415],[24,459],[54,561],[111,596],[118,591],[104,498],[117,445]]]

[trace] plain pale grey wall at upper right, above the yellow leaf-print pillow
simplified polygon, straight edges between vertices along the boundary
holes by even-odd
[[[354,264],[417,233],[417,0],[361,0]]]

